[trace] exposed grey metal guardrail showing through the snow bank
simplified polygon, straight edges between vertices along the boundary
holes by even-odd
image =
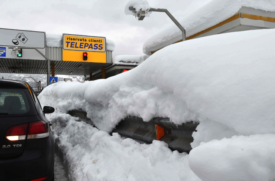
[[[95,126],[93,121],[87,118],[87,113],[82,110],[72,110],[68,114],[79,117],[79,121],[84,121]],[[196,131],[196,127],[198,126],[198,123],[195,122],[188,122],[177,126],[170,122],[169,118],[153,118],[149,122],[144,122],[142,118],[129,116],[121,120],[112,132],[151,144],[153,140],[156,140],[156,124],[164,128],[165,133],[159,140],[167,143],[171,150],[187,153],[192,150],[190,145],[193,142],[192,133]]]

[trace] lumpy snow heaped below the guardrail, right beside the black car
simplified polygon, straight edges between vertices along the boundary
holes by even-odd
[[[121,138],[68,114],[53,114],[55,151],[65,160],[69,180],[200,181],[188,166],[188,155],[164,142],[140,144]]]

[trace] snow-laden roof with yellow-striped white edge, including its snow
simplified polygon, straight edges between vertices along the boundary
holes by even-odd
[[[186,29],[186,40],[220,33],[275,28],[275,4],[263,0],[213,0],[179,22]],[[181,41],[182,32],[173,25],[147,39],[143,53],[151,55]]]

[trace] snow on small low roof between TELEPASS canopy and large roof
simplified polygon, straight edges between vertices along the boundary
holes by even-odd
[[[113,63],[117,65],[139,65],[148,57],[148,55],[117,55],[113,58]]]

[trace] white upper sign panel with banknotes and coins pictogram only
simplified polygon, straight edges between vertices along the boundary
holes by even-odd
[[[0,46],[45,48],[45,32],[0,28]]]

